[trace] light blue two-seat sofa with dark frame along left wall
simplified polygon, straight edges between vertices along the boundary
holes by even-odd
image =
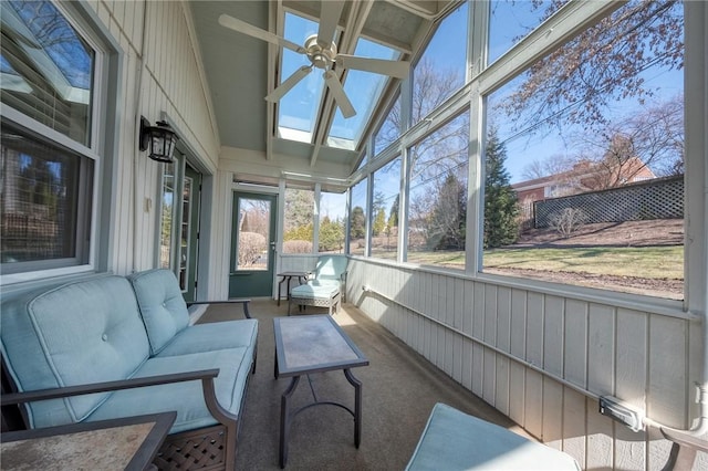
[[[174,410],[158,467],[184,461],[184,443],[204,441],[219,449],[206,453],[216,461],[206,464],[233,468],[256,367],[257,320],[190,326],[177,280],[167,270],[97,276],[3,299],[0,318],[4,368],[19,393],[118,381],[118,390],[25,402],[29,427]]]

